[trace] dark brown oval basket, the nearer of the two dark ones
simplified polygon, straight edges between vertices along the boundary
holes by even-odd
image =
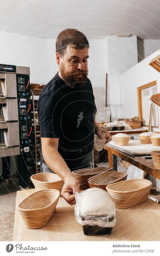
[[[107,171],[102,172],[88,179],[90,188],[101,188],[106,190],[106,186],[127,179],[125,172]]]

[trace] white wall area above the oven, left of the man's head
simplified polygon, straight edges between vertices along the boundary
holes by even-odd
[[[52,40],[1,32],[0,56],[2,64],[30,67],[32,83],[47,83],[54,75]]]

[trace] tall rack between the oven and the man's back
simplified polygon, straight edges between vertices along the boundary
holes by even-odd
[[[31,99],[32,99],[32,130],[33,130],[33,136],[34,136],[34,146],[33,146],[33,153],[28,154],[27,161],[28,161],[28,167],[30,174],[35,174],[40,172],[40,167],[38,165],[40,161],[40,153],[39,153],[39,147],[40,147],[40,129],[39,129],[39,123],[38,123],[38,112],[37,112],[37,105],[38,105],[38,98],[43,90],[45,85],[41,84],[30,84],[31,88]]]

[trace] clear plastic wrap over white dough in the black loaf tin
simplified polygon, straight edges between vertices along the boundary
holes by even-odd
[[[114,227],[116,225],[115,204],[111,201],[110,195],[106,191],[101,188],[89,188],[80,193],[76,192],[75,199],[75,218],[82,226],[97,225],[100,227]],[[108,201],[107,204],[106,201]],[[99,207],[99,205],[101,205],[101,207]],[[82,206],[84,208],[83,213],[81,213]],[[86,214],[84,214],[84,212],[86,212]]]

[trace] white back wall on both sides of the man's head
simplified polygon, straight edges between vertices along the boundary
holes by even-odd
[[[57,73],[56,39],[46,39],[16,33],[0,32],[1,64],[30,67],[32,83],[47,84]],[[92,82],[97,107],[105,106],[106,57],[104,39],[89,40],[89,79]],[[96,61],[95,61],[96,60]],[[98,66],[98,65],[101,66]]]

